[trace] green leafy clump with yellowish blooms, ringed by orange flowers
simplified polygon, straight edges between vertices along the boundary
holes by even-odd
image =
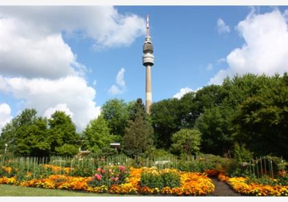
[[[159,175],[144,172],[141,174],[140,184],[149,188],[163,188],[165,186],[176,188],[180,186],[180,176],[171,172],[160,173]]]

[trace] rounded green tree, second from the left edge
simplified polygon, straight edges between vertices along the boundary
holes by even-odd
[[[75,155],[80,136],[75,124],[65,112],[56,111],[48,120],[51,152],[56,155]],[[71,149],[73,148],[73,149]],[[71,153],[71,151],[74,151]]]

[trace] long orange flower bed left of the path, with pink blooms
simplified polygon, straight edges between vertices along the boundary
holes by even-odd
[[[177,187],[149,187],[141,186],[141,175],[151,173],[152,175],[163,175],[170,180],[177,175],[180,184]],[[129,174],[129,175],[128,175]],[[169,174],[169,175],[168,175]],[[176,177],[177,179],[177,177]],[[105,180],[105,181],[104,181]],[[98,168],[93,177],[69,177],[66,175],[50,175],[43,179],[31,179],[17,181],[14,177],[1,177],[0,184],[13,184],[27,187],[82,190],[86,192],[109,192],[113,194],[169,194],[176,196],[200,196],[214,191],[215,186],[206,174],[181,172],[178,170],[164,169],[157,171],[156,168]],[[175,184],[177,185],[177,184]]]

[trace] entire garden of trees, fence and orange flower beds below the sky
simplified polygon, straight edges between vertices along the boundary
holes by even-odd
[[[0,184],[132,195],[288,195],[288,75],[243,75],[152,104],[108,100],[77,132],[26,109],[1,130]],[[117,142],[121,147],[112,148]],[[1,190],[1,186],[0,186]]]

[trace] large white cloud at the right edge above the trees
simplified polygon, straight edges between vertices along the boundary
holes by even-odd
[[[245,73],[274,75],[288,71],[287,17],[279,10],[265,14],[254,11],[239,22],[237,30],[244,38],[241,48],[226,57],[229,68],[221,70],[208,84],[221,84],[226,76]]]

